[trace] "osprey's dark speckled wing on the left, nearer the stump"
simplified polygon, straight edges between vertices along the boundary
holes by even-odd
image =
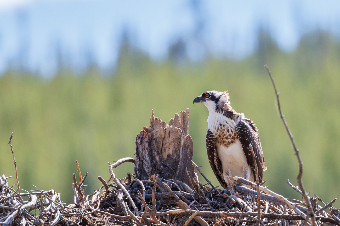
[[[214,134],[212,134],[210,129],[208,129],[208,132],[207,132],[206,144],[207,144],[208,160],[212,168],[212,171],[214,171],[214,174],[217,180],[220,182],[223,188],[227,189],[228,186],[225,183],[223,176],[221,177],[223,171],[222,171],[221,160],[218,158],[218,155],[217,155],[216,138]]]

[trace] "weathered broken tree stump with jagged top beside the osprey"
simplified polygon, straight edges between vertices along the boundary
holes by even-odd
[[[135,177],[147,179],[152,174],[159,178],[176,179],[191,186],[189,176],[196,177],[191,158],[192,139],[189,136],[189,108],[178,113],[169,124],[151,112],[150,126],[143,127],[135,143]],[[192,182],[194,183],[194,182]],[[195,186],[195,185],[194,185]]]

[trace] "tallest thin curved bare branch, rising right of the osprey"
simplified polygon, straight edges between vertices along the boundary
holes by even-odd
[[[302,162],[301,162],[301,158],[300,158],[300,155],[299,155],[299,151],[300,150],[297,149],[297,147],[296,147],[294,137],[293,137],[293,135],[292,135],[292,133],[291,133],[289,127],[288,127],[288,124],[286,122],[285,116],[282,113],[281,105],[280,105],[280,99],[279,99],[279,92],[277,91],[277,88],[276,88],[276,85],[275,85],[275,81],[274,81],[272,72],[270,71],[270,69],[267,66],[267,64],[265,64],[264,67],[267,69],[268,74],[270,76],[270,79],[272,80],[272,83],[273,83],[273,86],[274,86],[274,89],[275,89],[275,95],[276,95],[276,99],[277,99],[277,107],[278,107],[278,110],[279,110],[279,113],[280,113],[280,118],[282,119],[283,124],[284,124],[284,126],[285,126],[285,128],[287,130],[288,136],[290,138],[290,141],[291,141],[291,143],[293,145],[293,148],[294,148],[294,151],[295,151],[297,162],[299,163],[299,174],[297,174],[296,180],[297,180],[297,183],[299,183],[299,186],[301,188],[302,196],[303,196],[303,198],[304,198],[304,200],[306,202],[306,206],[308,208],[308,213],[309,213],[309,215],[312,218],[312,226],[315,226],[314,213],[313,213],[313,210],[311,208],[310,201],[309,201],[309,199],[307,197],[307,192],[306,192],[305,187],[303,186],[303,183],[302,183],[302,171],[303,171],[303,167],[302,167]]]

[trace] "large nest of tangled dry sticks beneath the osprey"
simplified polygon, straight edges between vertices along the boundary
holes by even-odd
[[[82,178],[77,163],[80,182],[77,182],[73,173],[72,187],[75,196],[74,204],[71,205],[63,203],[59,193],[53,189],[20,189],[22,192],[19,196],[16,190],[8,186],[6,179],[9,177],[2,175],[0,224],[289,226],[311,223],[305,202],[286,199],[261,184],[256,186],[256,183],[243,178],[230,178],[233,191],[236,191],[234,193],[216,189],[214,186],[206,187],[207,184],[211,185],[208,179],[208,183],[204,185],[198,178],[190,179],[191,186],[178,180],[158,178],[158,175],[139,180],[128,174],[128,177],[118,180],[113,168],[126,161],[133,162],[133,159],[125,158],[110,164],[111,178],[105,181],[98,177],[103,186],[88,196],[85,196],[87,185],[83,184],[87,173]],[[194,163],[193,165],[204,176],[199,167]],[[111,180],[113,182],[110,183]],[[302,194],[289,181],[287,183]],[[100,192],[103,193],[100,195]],[[335,199],[325,204],[319,197],[314,196],[315,198],[308,199],[313,207],[315,224],[340,225],[339,211],[332,207]],[[319,202],[324,206],[321,207]],[[330,214],[326,209],[329,209]]]

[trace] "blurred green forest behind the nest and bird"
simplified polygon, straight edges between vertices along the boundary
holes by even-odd
[[[82,75],[60,70],[51,79],[10,70],[0,77],[0,174],[13,176],[10,185],[16,183],[7,146],[14,132],[20,187],[55,189],[62,200],[73,203],[76,160],[83,174],[88,172],[84,184],[90,194],[101,185],[98,176],[109,178],[107,162],[134,157],[136,135],[149,125],[151,109],[169,122],[189,107],[193,161],[219,185],[206,155],[208,110],[192,101],[207,90],[229,90],[233,108],[259,128],[268,167],[266,185],[285,197],[299,198],[286,183],[289,179],[297,185],[298,165],[265,63],[301,150],[307,192],[324,202],[340,198],[340,44],[322,32],[305,36],[289,53],[262,34],[256,53],[239,61],[209,57],[200,63],[179,63],[169,57],[155,62],[125,43],[111,75],[96,66]],[[124,163],[115,173],[123,178],[133,170],[132,163]]]

